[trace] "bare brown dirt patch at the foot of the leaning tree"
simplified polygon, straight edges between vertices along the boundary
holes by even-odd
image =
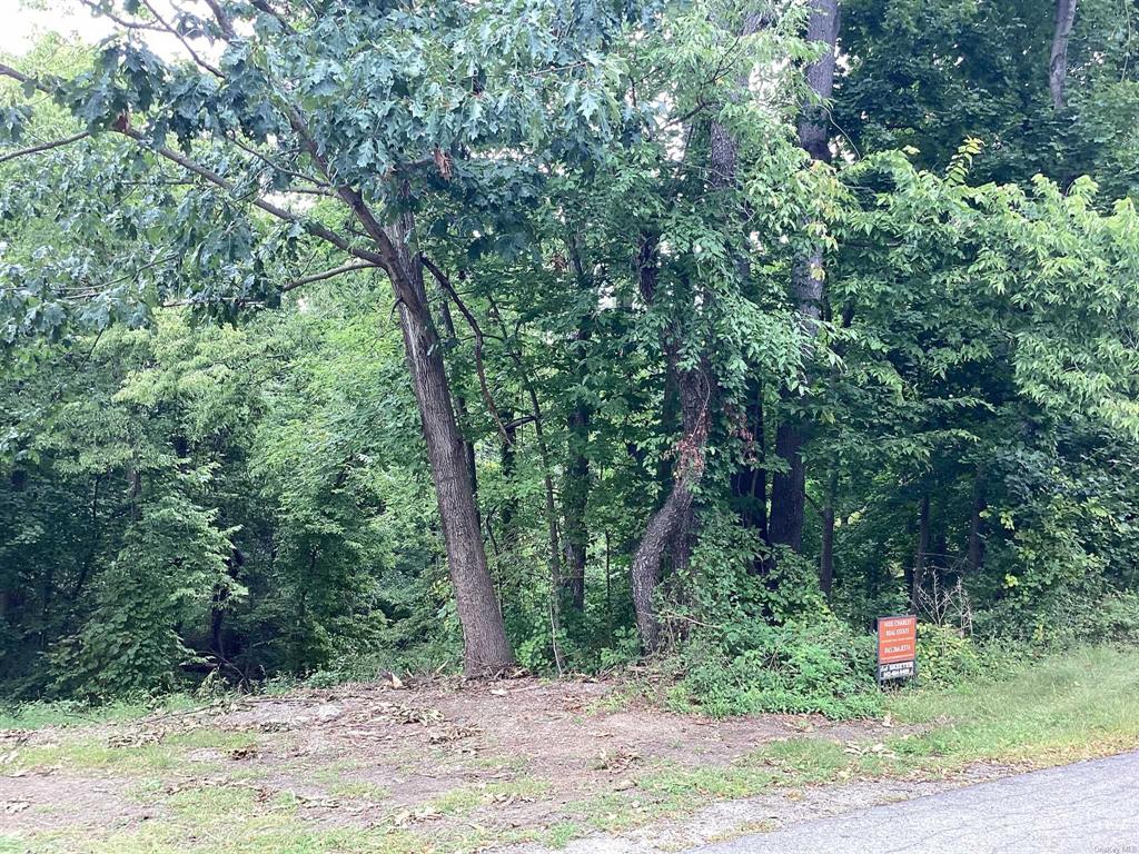
[[[394,758],[411,775],[429,779],[456,771],[474,773],[472,761],[482,766],[501,759],[530,774],[560,780],[620,771],[622,756],[628,763],[652,758],[726,764],[778,739],[806,733],[850,740],[876,728],[804,715],[712,721],[636,699],[606,711],[606,701],[621,689],[614,683],[532,679],[458,689],[454,683],[401,690],[350,685],[248,700],[215,717],[212,725],[287,733],[278,739],[278,758],[346,758],[379,767]],[[261,758],[272,753],[267,750]]]

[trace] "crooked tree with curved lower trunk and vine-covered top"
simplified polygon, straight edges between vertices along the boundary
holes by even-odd
[[[658,120],[663,126],[641,131],[645,148],[661,163],[656,174],[663,180],[645,188],[650,205],[633,210],[637,293],[664,359],[663,401],[679,416],[679,436],[670,450],[671,477],[631,563],[637,626],[648,651],[663,641],[655,597],[665,555],[671,555],[674,573],[682,575],[695,543],[696,503],[705,488],[716,413],[746,395],[748,359],[770,358],[769,348],[778,347],[762,340],[770,332],[770,318],[749,298],[748,256],[755,247],[748,246],[743,230],[746,222],[752,228],[770,223],[773,231],[786,224],[784,212],[772,211],[770,198],[756,204],[749,187],[755,170],[786,157],[790,142],[786,129],[777,126],[793,104],[786,72],[764,69],[770,76],[765,82],[776,91],[763,105],[767,115],[747,83],[773,54],[800,44],[792,34],[797,18],[785,16],[777,25],[761,26],[768,17],[765,9],[751,3],[721,10],[711,20],[682,16],[679,20],[690,30],[693,47],[675,56],[666,33],[647,51],[648,61],[666,73],[674,63],[698,68],[695,75],[665,79],[686,85],[673,93],[672,115]],[[674,136],[662,133],[671,128],[677,129],[673,134],[683,134],[679,151]],[[705,199],[708,207],[695,207],[693,199]],[[756,339],[747,340],[752,335]],[[772,361],[781,370],[788,362],[797,364],[797,358],[786,353]]]

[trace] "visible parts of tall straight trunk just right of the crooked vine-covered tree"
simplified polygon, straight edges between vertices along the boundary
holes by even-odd
[[[809,41],[823,42],[828,50],[806,69],[806,82],[817,99],[830,98],[835,80],[835,41],[838,38],[837,0],[814,0],[808,20]],[[812,159],[830,162],[830,134],[826,106],[809,104],[798,118],[798,142]],[[822,310],[822,248],[811,247],[792,265],[792,291],[803,331],[811,340]],[[810,353],[810,345],[805,348]],[[771,481],[771,542],[800,551],[806,507],[806,469],[802,457],[806,424],[797,414],[786,414],[776,428],[776,453],[787,463]]]

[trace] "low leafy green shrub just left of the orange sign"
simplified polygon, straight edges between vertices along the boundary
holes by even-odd
[[[685,674],[671,700],[718,717],[817,712],[844,718],[882,707],[872,638],[833,617],[702,630],[685,642],[680,660]]]

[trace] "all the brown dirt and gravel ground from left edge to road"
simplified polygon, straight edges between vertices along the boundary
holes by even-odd
[[[972,781],[773,789],[680,813],[638,794],[646,775],[728,769],[780,740],[859,750],[890,725],[804,715],[713,721],[662,711],[622,683],[528,678],[249,697],[114,725],[0,732],[0,851],[3,835],[130,831],[163,820],[178,793],[210,787],[252,789],[267,804],[288,798],[305,827],[474,827],[485,832],[472,849],[632,854]],[[68,745],[83,749],[75,755]]]

